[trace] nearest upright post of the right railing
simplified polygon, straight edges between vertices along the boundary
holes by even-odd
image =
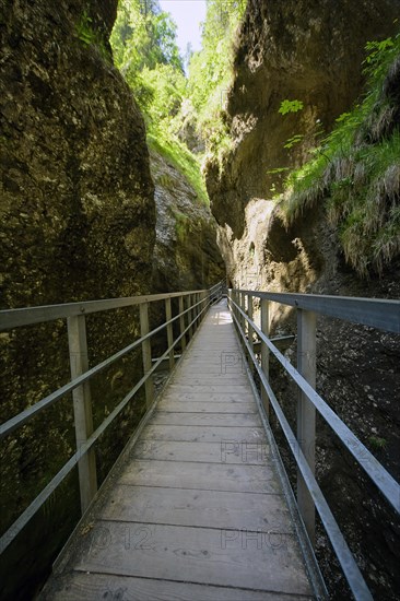
[[[297,370],[315,388],[316,386],[316,314],[297,309]],[[297,440],[315,473],[316,410],[303,392],[297,401]],[[315,506],[307,486],[297,472],[297,504],[311,544],[315,544]]]

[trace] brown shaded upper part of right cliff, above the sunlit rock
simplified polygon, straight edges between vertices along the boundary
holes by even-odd
[[[234,150],[221,175],[216,162],[207,173],[212,211],[235,238],[244,233],[247,203],[279,191],[282,174],[269,172],[301,164],[318,133],[356,99],[365,43],[396,32],[399,10],[399,0],[249,0],[228,93]],[[304,109],[283,116],[284,99],[302,101]],[[302,143],[284,149],[295,134]]]

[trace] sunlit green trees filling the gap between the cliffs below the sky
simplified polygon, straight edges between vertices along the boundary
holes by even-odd
[[[203,48],[188,48],[189,76],[175,42],[176,26],[157,0],[121,0],[111,35],[117,66],[145,118],[149,144],[181,170],[209,202],[197,158],[177,139],[184,121],[222,162],[231,141],[224,120],[232,79],[233,40],[246,0],[209,0]]]

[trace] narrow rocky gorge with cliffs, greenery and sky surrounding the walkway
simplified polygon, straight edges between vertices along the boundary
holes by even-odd
[[[400,298],[399,15],[400,0],[0,0],[0,310],[222,280]],[[94,366],[140,337],[140,313],[86,327]],[[294,311],[272,304],[269,327],[295,364]],[[317,341],[318,392],[399,481],[399,338],[320,317]],[[1,331],[0,423],[70,381],[69,362],[66,319]],[[294,422],[297,392],[270,368]],[[93,380],[94,426],[142,375],[138,349]],[[99,484],[144,410],[143,392],[99,438]],[[1,441],[0,537],[74,453],[74,423],[66,396]],[[373,594],[397,601],[398,519],[325,424],[316,471]],[[74,470],[1,555],[0,598],[34,600],[79,519]],[[349,598],[322,528],[316,554]]]

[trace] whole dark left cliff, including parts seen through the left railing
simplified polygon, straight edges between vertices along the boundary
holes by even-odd
[[[108,37],[116,9],[117,0],[0,2],[1,308],[153,291],[154,185],[142,116],[113,66]],[[200,213],[200,229],[212,247],[210,217]],[[167,259],[157,247],[157,290],[165,284],[162,261],[168,263],[167,290],[213,278],[207,260],[189,278],[195,258],[184,258],[183,247],[176,247],[172,255],[166,248]],[[110,311],[89,318],[87,331],[95,365],[138,335],[138,319],[129,310]],[[0,346],[0,422],[69,379],[62,321],[2,333]],[[132,386],[140,361],[130,356],[94,381],[95,425]],[[102,438],[99,480],[140,415],[139,398]],[[1,533],[70,457],[73,438],[72,403],[66,398],[4,440]],[[78,517],[75,478],[72,473],[2,556],[3,599],[31,598],[49,569]]]

